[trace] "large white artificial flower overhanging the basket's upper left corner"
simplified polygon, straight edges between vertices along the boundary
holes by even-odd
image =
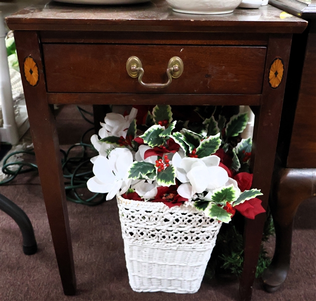
[[[92,192],[108,193],[107,200],[111,200],[120,189],[126,192],[131,182],[127,179],[127,171],[132,163],[133,155],[128,148],[113,149],[109,158],[98,156],[93,166],[95,177],[88,180],[88,189]],[[124,193],[122,191],[121,193]]]

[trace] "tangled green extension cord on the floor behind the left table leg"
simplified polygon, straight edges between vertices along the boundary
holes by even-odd
[[[81,116],[87,122],[94,124],[91,120],[89,120],[85,116],[85,114],[93,115],[91,112],[88,112],[79,106],[77,106],[77,108]],[[67,152],[65,152],[65,150],[63,149],[60,150],[60,152],[63,154],[63,159],[62,159],[63,175],[64,175],[64,178],[67,179],[67,181],[65,182],[67,200],[77,203],[77,204],[83,204],[83,205],[88,205],[88,206],[96,206],[103,203],[105,201],[105,196],[106,196],[106,194],[96,193],[96,194],[93,194],[92,197],[84,198],[83,194],[81,194],[78,191],[78,190],[86,190],[88,192],[87,181],[91,177],[93,177],[92,169],[91,168],[87,169],[86,166],[89,165],[90,159],[93,157],[93,156],[89,156],[88,150],[90,150],[90,153],[91,152],[96,153],[96,150],[92,144],[87,144],[83,142],[86,134],[93,129],[94,127],[89,128],[81,136],[80,142],[71,145],[68,148]],[[82,149],[81,156],[70,157],[71,150],[78,147]],[[29,173],[32,171],[38,171],[37,165],[33,163],[28,163],[24,161],[7,163],[8,160],[12,156],[19,155],[19,154],[28,154],[31,156],[35,156],[34,150],[22,150],[20,152],[14,152],[8,155],[4,160],[4,166],[2,168],[2,171],[4,174],[9,175],[9,178],[0,182],[0,186],[8,184],[20,174]],[[12,166],[17,166],[18,169],[13,171],[10,169],[10,167]]]

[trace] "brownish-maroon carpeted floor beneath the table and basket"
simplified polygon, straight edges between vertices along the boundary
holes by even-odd
[[[89,108],[89,107],[88,107]],[[91,108],[90,108],[91,109]],[[79,141],[89,127],[73,106],[57,116],[60,143]],[[229,301],[238,299],[238,282],[203,281],[195,294],[137,293],[128,283],[123,240],[116,202],[87,207],[68,202],[78,294],[62,291],[40,180],[36,173],[20,175],[1,193],[18,204],[33,223],[39,251],[26,256],[17,224],[0,212],[0,299],[18,300],[165,300]],[[316,202],[305,201],[295,219],[291,268],[284,285],[275,293],[263,291],[260,280],[252,300],[316,300]],[[267,245],[272,254],[273,238]]]

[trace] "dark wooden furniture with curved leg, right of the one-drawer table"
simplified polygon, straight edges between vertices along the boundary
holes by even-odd
[[[302,34],[293,35],[269,201],[276,244],[262,278],[264,288],[273,292],[289,270],[296,210],[303,200],[316,196],[316,1],[270,3],[308,21]]]

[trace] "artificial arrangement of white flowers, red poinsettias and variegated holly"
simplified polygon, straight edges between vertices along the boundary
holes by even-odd
[[[241,168],[250,160],[251,140],[230,143],[245,128],[247,115],[215,119],[214,110],[205,117],[198,108],[202,122],[190,129],[188,121],[173,120],[169,105],[157,105],[147,112],[141,133],[137,109],[126,116],[108,113],[101,139],[91,138],[99,156],[92,159],[95,177],[87,183],[89,190],[107,193],[107,200],[120,195],[169,208],[190,203],[224,223],[236,210],[251,219],[264,212],[256,198],[260,191],[250,189],[252,175]]]

